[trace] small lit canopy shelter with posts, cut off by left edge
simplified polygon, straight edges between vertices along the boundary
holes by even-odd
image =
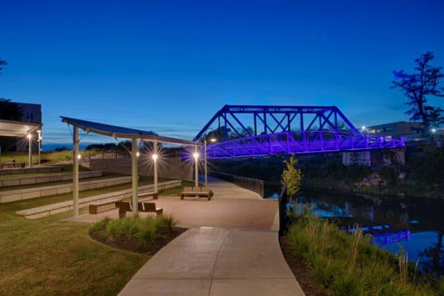
[[[33,166],[33,134],[38,132],[40,143],[42,134],[42,123],[29,123],[24,121],[10,121],[0,119],[0,136],[3,137],[28,137],[28,165]],[[39,147],[40,164],[40,147]]]

